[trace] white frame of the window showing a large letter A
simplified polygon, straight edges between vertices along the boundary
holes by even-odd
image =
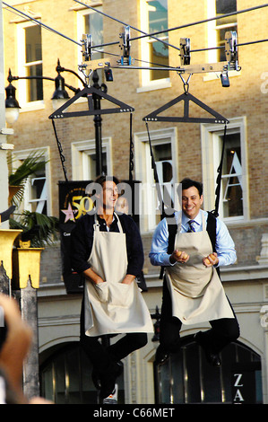
[[[215,189],[220,164],[220,148],[216,146],[217,138],[224,133],[224,125],[201,125],[202,169],[203,169],[203,203],[204,209],[212,210],[215,207]],[[225,223],[237,223],[249,221],[249,189],[247,170],[247,146],[246,146],[246,117],[229,119],[227,134],[240,134],[241,166],[243,183],[243,215],[223,217],[222,195],[220,189],[219,215]],[[217,143],[218,145],[218,143]]]

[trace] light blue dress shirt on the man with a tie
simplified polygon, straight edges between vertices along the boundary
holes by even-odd
[[[178,221],[178,215],[182,213],[177,211],[175,213],[176,221]],[[202,213],[207,221],[208,213],[200,210],[199,214],[195,217],[195,232],[201,232],[203,230],[202,224]],[[181,229],[180,233],[186,233],[189,228],[187,224],[189,218],[182,213]],[[160,224],[155,229],[152,236],[151,251],[149,257],[152,265],[158,266],[170,266],[169,257],[167,253],[169,246],[169,229],[166,218],[160,221]],[[230,237],[226,224],[217,218],[216,224],[216,252],[219,258],[219,263],[216,267],[233,264],[237,260],[237,252],[235,250],[235,244]]]

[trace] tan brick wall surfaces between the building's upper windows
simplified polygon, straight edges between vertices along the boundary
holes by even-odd
[[[132,26],[140,27],[138,0],[104,0],[103,11],[117,19],[131,23]],[[248,0],[238,0],[238,10],[246,9],[258,4]],[[42,17],[42,22],[55,28],[76,40],[76,16],[72,7],[72,1],[56,0],[48,2],[38,0],[29,4],[30,10]],[[22,7],[18,5],[17,7]],[[183,25],[189,22],[197,22],[207,18],[207,2],[201,0],[195,2],[169,0],[169,28]],[[5,41],[5,74],[11,67],[13,75],[18,72],[16,60],[16,23],[19,20],[13,13],[4,11],[4,41]],[[262,40],[267,38],[268,8],[252,13],[238,15],[238,37],[243,42]],[[105,18],[104,35],[107,42],[119,40],[119,32],[122,25]],[[131,30],[131,35],[138,35]],[[191,48],[205,48],[207,45],[207,31],[205,24],[189,26],[179,31],[169,33],[169,42],[179,46],[180,37],[191,39]],[[59,57],[61,65],[65,68],[77,71],[78,47],[71,41],[42,30],[43,41],[43,66],[44,75],[56,76],[56,61]],[[118,46],[105,48],[108,52],[119,54]],[[242,67],[240,75],[230,78],[230,87],[223,89],[219,79],[204,81],[203,75],[193,75],[190,81],[189,91],[196,98],[208,104],[213,110],[217,110],[228,119],[246,116],[246,142],[247,142],[247,171],[248,188],[250,198],[250,218],[266,219],[268,217],[268,196],[264,189],[268,177],[267,166],[267,109],[268,92],[262,90],[265,72],[267,68],[268,44],[260,43],[252,46],[239,48],[239,65]],[[132,57],[140,57],[140,42],[132,42]],[[170,65],[178,66],[179,52],[170,49]],[[202,51],[193,54],[191,63],[206,63],[207,52]],[[136,63],[137,64],[137,63]],[[171,87],[162,90],[140,92],[141,73],[134,70],[118,70],[114,72],[114,82],[107,83],[108,94],[134,107],[133,132],[145,131],[143,117],[152,110],[156,110],[161,104],[173,100],[183,91],[183,84],[179,76],[174,72],[170,75]],[[77,86],[77,79],[70,73],[64,73],[65,83]],[[18,86],[17,82],[13,83]],[[15,145],[15,150],[27,149],[38,146],[49,146],[51,163],[51,195],[52,214],[58,215],[58,180],[64,180],[61,163],[56,146],[51,121],[48,116],[52,113],[51,96],[54,84],[44,83],[44,109],[22,112],[20,119],[14,125],[14,135],[9,136],[9,142]],[[72,93],[70,94],[72,95]],[[76,104],[76,110],[84,110],[85,104]],[[23,111],[23,110],[22,110]],[[200,117],[203,111],[200,111]],[[177,110],[170,110],[175,114]],[[200,127],[198,124],[169,124],[164,122],[153,123],[153,129],[162,127],[177,127],[177,168],[178,179],[191,176],[202,179],[203,169],[201,162]],[[92,117],[77,119],[62,119],[56,121],[59,139],[63,145],[65,166],[68,178],[72,180],[71,143],[77,140],[94,139],[94,124]],[[106,115],[102,117],[102,136],[112,138],[113,171],[121,179],[128,177],[129,160],[129,114]],[[190,148],[189,148],[190,144]],[[241,230],[242,227],[242,230]],[[238,263],[255,263],[255,255],[259,253],[261,235],[267,231],[267,225],[250,224],[231,228],[231,233],[238,248]],[[148,263],[148,251],[150,250],[150,234],[144,236],[144,251],[146,253],[145,265]],[[254,252],[253,252],[254,251]],[[46,256],[45,256],[46,255]],[[43,254],[42,263],[45,265],[50,251]],[[51,258],[57,259],[58,252]],[[51,279],[59,277],[59,266],[51,274]],[[151,270],[151,268],[150,268]]]

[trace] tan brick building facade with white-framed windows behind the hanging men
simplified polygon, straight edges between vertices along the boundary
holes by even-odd
[[[183,327],[181,353],[160,368],[153,365],[158,341],[151,333],[146,347],[125,358],[124,376],[118,382],[119,401],[267,403],[268,197],[264,184],[268,177],[268,9],[248,0],[202,0],[195,7],[192,3],[10,0],[3,4],[5,75],[11,69],[13,76],[19,76],[12,84],[21,106],[8,142],[14,145],[13,166],[33,152],[42,154],[44,162],[39,174],[29,180],[23,208],[64,218],[64,223],[68,215],[59,201],[61,182],[79,184],[96,177],[97,137],[101,139],[103,171],[129,180],[131,168],[139,182],[136,214],[147,286],[143,297],[151,314],[156,307],[160,309],[162,286],[160,268],[152,267],[148,258],[151,236],[160,221],[151,150],[162,191],[176,201],[173,188],[179,180],[187,176],[201,180],[207,210],[215,207],[222,157],[219,215],[236,243],[238,261],[222,268],[221,278],[238,315],[240,338],[222,353],[223,364],[216,374],[193,341],[196,330],[209,324]],[[226,60],[227,31],[238,36],[238,68],[228,69],[229,87],[223,86],[220,78],[226,69],[222,66],[219,71],[219,63]],[[146,37],[148,33],[156,35]],[[82,82],[90,87],[94,84],[91,61],[86,62],[82,55],[82,34],[91,34],[96,46],[91,60],[116,63],[113,81],[107,81],[104,71],[98,70],[95,84],[107,87],[101,110],[110,107],[111,97],[134,111],[100,113],[98,122],[92,114],[49,119],[54,115],[51,98],[58,60],[65,69],[60,75],[71,99],[72,87],[82,90]],[[130,42],[122,47],[124,36]],[[181,61],[181,39],[190,40],[193,71],[189,74],[176,70],[186,64]],[[125,66],[118,67],[117,60]],[[81,66],[84,64],[86,68]],[[207,72],[197,71],[198,66],[206,65],[216,70],[205,67]],[[217,123],[144,119],[164,105],[168,106],[161,110],[162,117],[185,117],[185,97],[177,100],[184,93],[202,101],[201,105],[189,101],[190,118],[212,117],[209,107],[229,120],[225,136],[224,119]],[[60,106],[55,107],[58,110]],[[86,98],[79,97],[68,110],[89,110]],[[81,199],[73,198],[74,208],[85,212],[87,206]],[[97,400],[91,364],[79,348],[81,301],[82,291],[66,291],[58,241],[42,252],[38,289],[40,391],[57,403]]]

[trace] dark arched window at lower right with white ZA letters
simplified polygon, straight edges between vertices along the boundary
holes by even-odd
[[[193,336],[182,338],[179,353],[155,367],[157,403],[262,403],[261,358],[234,342],[209,365]]]

